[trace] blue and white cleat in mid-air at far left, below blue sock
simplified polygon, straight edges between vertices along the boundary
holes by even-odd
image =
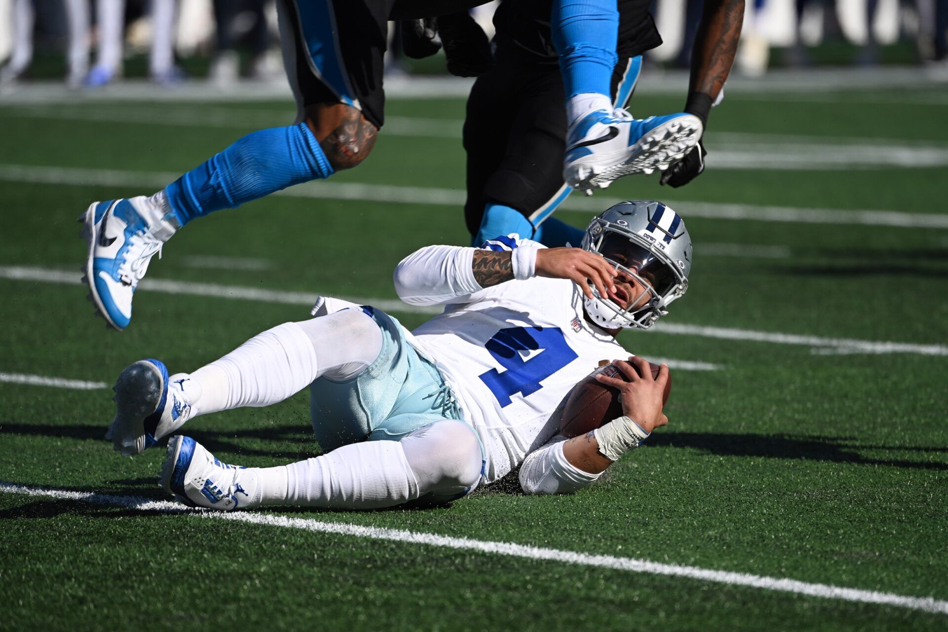
[[[79,217],[89,253],[82,280],[109,326],[121,331],[132,319],[132,298],[148,263],[164,244],[137,206],[145,197],[96,202]]]

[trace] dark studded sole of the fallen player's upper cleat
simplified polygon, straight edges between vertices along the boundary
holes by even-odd
[[[150,447],[145,437],[145,418],[161,403],[165,389],[164,376],[151,362],[141,360],[121,372],[112,388],[118,413],[110,426],[113,447],[123,457],[142,453]],[[134,438],[128,441],[129,438]]]

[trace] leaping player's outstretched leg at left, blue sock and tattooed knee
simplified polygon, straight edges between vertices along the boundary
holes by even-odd
[[[364,97],[352,97],[356,92],[337,54],[336,34],[325,30],[333,16],[324,13],[332,5],[285,0],[279,6],[284,61],[299,122],[246,135],[154,195],[95,203],[80,218],[89,243],[84,271],[90,298],[112,327],[128,325],[138,280],[181,226],[353,168],[372,151],[380,124],[380,82]],[[320,13],[319,7],[325,10]],[[346,32],[355,29],[356,16],[345,17]],[[379,76],[382,50],[384,41],[381,49],[363,51],[370,60],[378,58]],[[362,101],[366,104],[360,111],[356,105]]]

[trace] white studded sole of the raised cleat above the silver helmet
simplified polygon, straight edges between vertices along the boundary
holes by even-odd
[[[619,164],[606,169],[595,165],[571,165],[564,173],[565,179],[574,183],[574,189],[592,195],[593,190],[605,189],[626,175],[665,171],[698,144],[701,134],[702,122],[698,117],[687,115],[669,120],[632,145],[629,155]]]

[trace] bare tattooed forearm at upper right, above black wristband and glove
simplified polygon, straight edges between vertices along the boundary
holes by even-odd
[[[743,22],[744,0],[705,1],[691,55],[689,89],[692,93],[718,98],[734,65]]]

